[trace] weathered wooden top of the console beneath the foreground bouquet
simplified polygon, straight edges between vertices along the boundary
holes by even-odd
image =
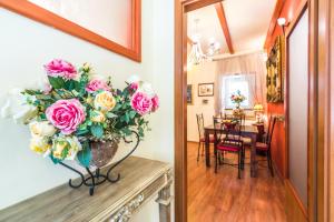
[[[170,169],[168,163],[130,157],[114,169],[121,179],[117,183],[98,185],[92,196],[87,186],[71,189],[66,183],[1,210],[0,221],[102,221],[101,215],[112,215],[134,196],[148,188],[153,190],[150,185],[166,178]],[[149,198],[146,194],[145,200]]]

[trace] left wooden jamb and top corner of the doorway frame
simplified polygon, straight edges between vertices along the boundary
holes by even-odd
[[[174,70],[174,164],[175,221],[187,221],[187,16],[222,0],[174,0],[175,70]]]

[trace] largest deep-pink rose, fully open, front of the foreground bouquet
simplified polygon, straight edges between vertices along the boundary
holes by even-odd
[[[77,99],[58,100],[47,109],[46,114],[63,134],[75,132],[86,119],[84,105]]]

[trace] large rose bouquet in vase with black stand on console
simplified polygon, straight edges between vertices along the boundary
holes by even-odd
[[[149,130],[145,117],[158,109],[158,97],[138,78],[126,82],[125,89],[116,89],[110,78],[95,74],[88,63],[77,70],[55,59],[45,70],[48,81],[43,89],[17,90],[17,101],[8,100],[1,113],[29,124],[30,149],[78,173],[79,182],[70,180],[69,185],[87,185],[92,195],[96,185],[120,179],[119,174],[112,178],[111,170],[136,150]],[[14,109],[13,103],[20,108]],[[121,140],[132,142],[134,148],[109,167]],[[79,163],[88,175],[66,160]],[[106,165],[107,173],[101,173]]]

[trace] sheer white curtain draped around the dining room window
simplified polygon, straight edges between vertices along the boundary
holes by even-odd
[[[256,52],[245,56],[236,56],[217,61],[216,69],[216,113],[224,111],[224,77],[243,74],[249,83],[250,95],[254,103],[262,103],[266,108],[266,65],[264,53]],[[255,75],[255,81],[252,78]]]

